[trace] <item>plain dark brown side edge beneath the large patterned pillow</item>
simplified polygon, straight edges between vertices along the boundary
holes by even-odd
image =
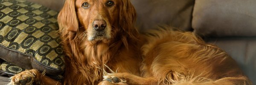
[[[2,51],[0,51],[1,59],[8,61],[20,68],[25,68],[25,69],[34,68],[34,69],[38,69],[38,71],[40,72],[46,71],[46,73],[49,75],[60,75],[64,72],[64,71],[58,70],[57,68],[53,68],[53,67],[44,65],[41,62],[38,62],[35,59],[35,57],[32,57],[29,54],[24,54],[24,53],[21,53],[20,51],[7,48],[6,46],[3,46],[1,44],[0,44],[0,49],[2,49]],[[22,57],[22,58],[17,58],[17,57]],[[16,59],[19,59],[19,62],[17,62]],[[20,59],[23,59],[23,60],[20,60]],[[23,64],[20,64],[20,63],[23,63]]]

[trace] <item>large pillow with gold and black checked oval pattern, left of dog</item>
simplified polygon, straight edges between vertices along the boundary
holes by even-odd
[[[63,73],[57,15],[26,0],[0,0],[0,58],[24,69]]]

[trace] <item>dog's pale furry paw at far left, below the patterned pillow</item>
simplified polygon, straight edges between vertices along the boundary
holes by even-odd
[[[8,85],[32,85],[35,81],[37,70],[27,70],[19,74],[16,74],[13,77],[10,77],[11,81]]]

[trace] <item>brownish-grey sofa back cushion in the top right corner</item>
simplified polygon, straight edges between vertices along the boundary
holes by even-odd
[[[195,0],[192,28],[204,36],[256,36],[256,0]]]

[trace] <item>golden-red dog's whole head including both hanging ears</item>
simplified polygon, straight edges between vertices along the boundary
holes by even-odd
[[[131,36],[136,12],[129,0],[66,0],[58,15],[61,34],[75,32],[88,41]]]

